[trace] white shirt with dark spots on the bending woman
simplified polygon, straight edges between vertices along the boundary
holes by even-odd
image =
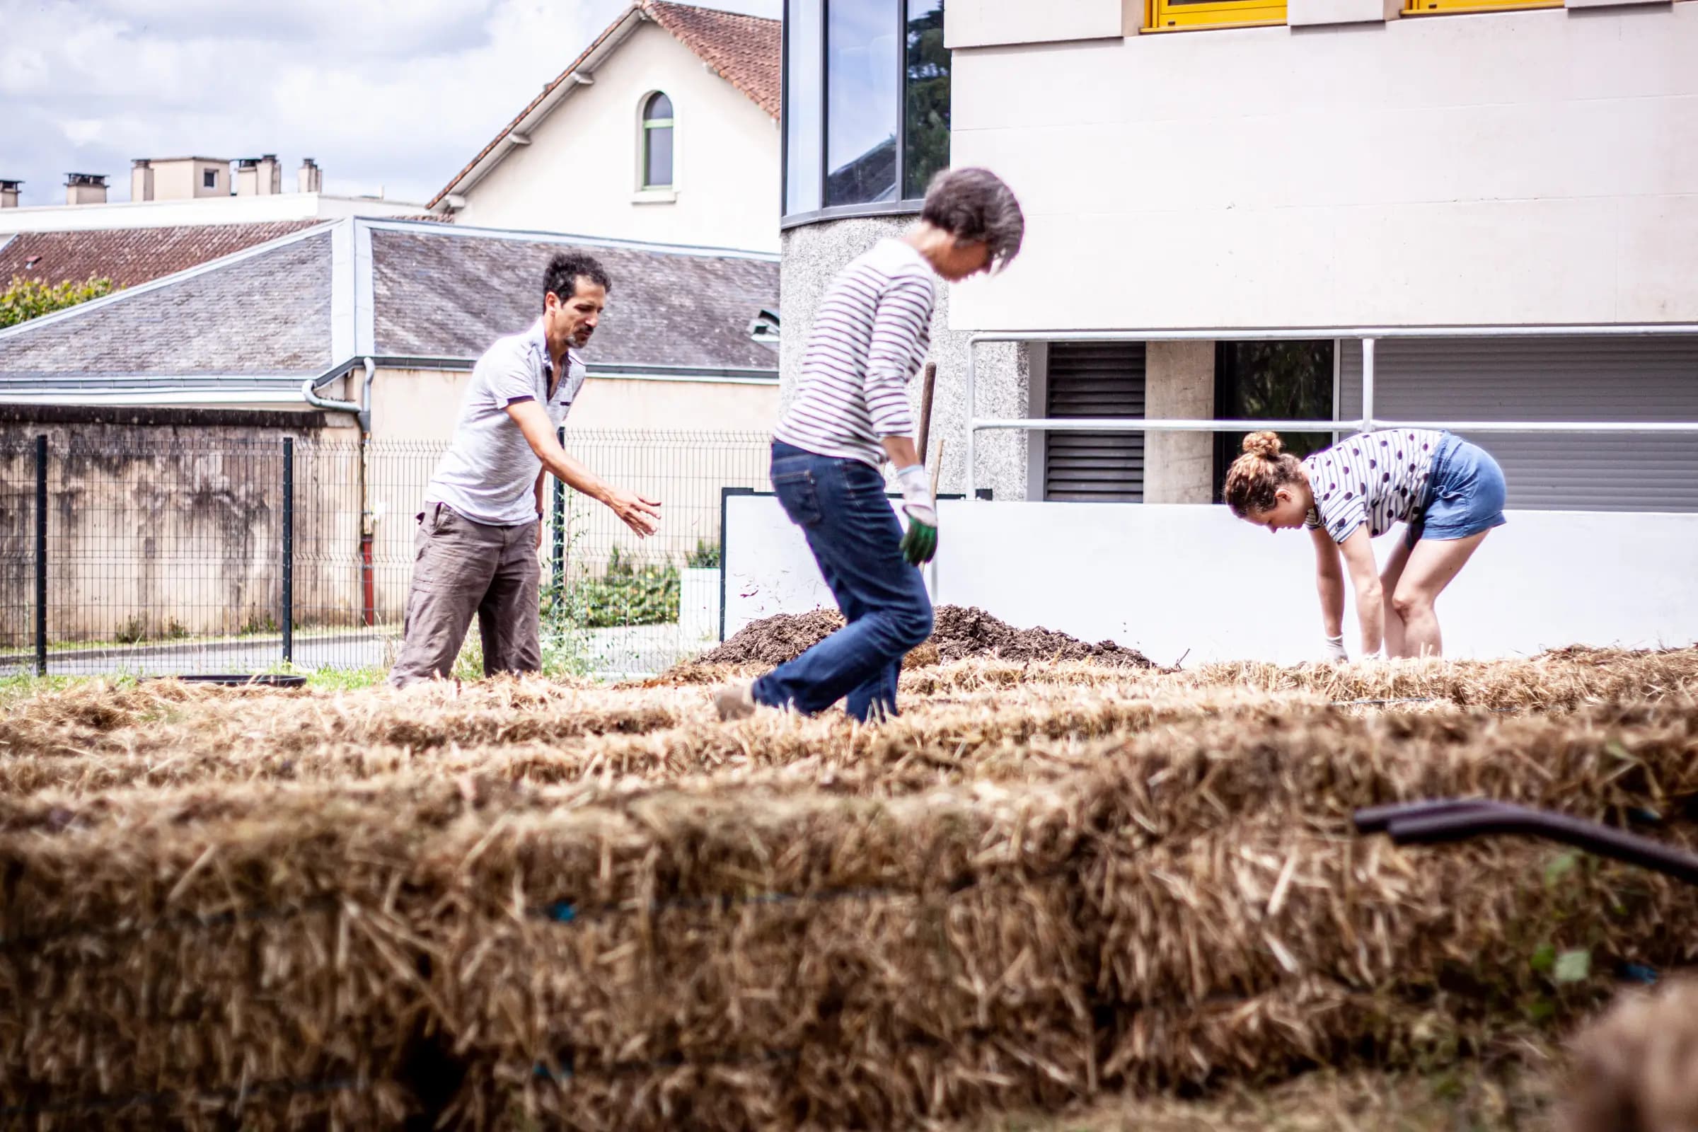
[[[1314,507],[1304,526],[1324,526],[1335,543],[1363,523],[1379,538],[1394,523],[1421,514],[1426,474],[1433,468],[1443,433],[1394,428],[1358,433],[1302,462],[1309,474]]]

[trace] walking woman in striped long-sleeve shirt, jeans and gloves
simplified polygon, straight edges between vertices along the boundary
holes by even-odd
[[[808,331],[796,395],[773,433],[773,490],[801,528],[847,625],[754,684],[723,687],[723,718],[756,704],[849,715],[897,713],[902,657],[932,631],[919,567],[937,546],[937,511],[914,448],[908,378],[931,336],[936,278],[998,270],[1020,249],[1026,219],[988,170],[944,170],[920,222],[832,280]],[[903,533],[885,496],[897,467]]]

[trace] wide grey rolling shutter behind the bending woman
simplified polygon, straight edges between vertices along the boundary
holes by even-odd
[[[1362,343],[1341,343],[1338,416],[1362,412]],[[1374,416],[1403,421],[1698,421],[1693,338],[1382,339]],[[1698,511],[1698,436],[1486,433],[1510,506]]]

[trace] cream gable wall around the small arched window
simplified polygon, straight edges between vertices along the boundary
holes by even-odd
[[[672,193],[644,193],[642,104],[672,100]],[[484,180],[460,224],[778,248],[778,124],[657,24],[642,24]],[[506,144],[506,143],[501,143]]]

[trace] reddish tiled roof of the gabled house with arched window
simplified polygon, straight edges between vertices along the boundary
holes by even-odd
[[[608,24],[606,31],[596,36],[596,41],[584,48],[584,53],[572,59],[572,64],[560,71],[552,83],[542,88],[542,93],[530,100],[518,115],[506,124],[506,127],[496,134],[487,146],[477,151],[465,168],[453,175],[441,192],[430,199],[426,207],[436,207],[436,202],[453,192],[455,185],[465,180],[465,175],[477,168],[482,161],[501,144],[501,139],[520,127],[531,110],[543,104],[548,95],[567,81],[577,68],[584,64],[589,56],[601,49],[608,39],[625,27],[625,22],[633,12],[644,12],[655,24],[664,27],[676,37],[681,44],[696,53],[696,56],[711,66],[725,81],[740,90],[756,105],[766,110],[774,119],[779,115],[779,71],[781,71],[781,41],[783,20],[767,20],[756,15],[737,15],[734,12],[720,12],[717,8],[698,8],[688,3],[661,3],[659,0],[637,0],[630,8],[620,14],[616,20]]]

